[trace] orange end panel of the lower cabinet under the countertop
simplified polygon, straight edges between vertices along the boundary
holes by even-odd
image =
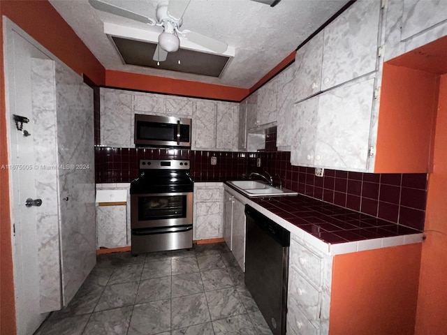
[[[408,244],[335,256],[329,334],[412,335],[421,248]]]

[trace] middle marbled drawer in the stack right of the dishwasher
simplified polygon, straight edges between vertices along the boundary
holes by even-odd
[[[321,308],[321,291],[293,268],[290,269],[288,278],[288,306],[300,308],[309,320],[317,320]]]

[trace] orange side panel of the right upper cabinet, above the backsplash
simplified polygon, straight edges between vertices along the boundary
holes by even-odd
[[[384,64],[374,172],[427,173],[439,75]]]

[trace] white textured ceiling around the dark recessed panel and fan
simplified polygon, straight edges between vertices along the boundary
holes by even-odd
[[[104,0],[155,19],[156,6],[166,0]],[[124,17],[92,8],[87,0],[50,0],[50,3],[108,70],[158,75],[248,89],[277,66],[347,0],[281,0],[273,8],[251,0],[191,0],[182,30],[189,29],[226,42],[235,57],[220,78],[122,64],[104,34],[104,22],[161,33]],[[148,55],[148,57],[152,57]]]

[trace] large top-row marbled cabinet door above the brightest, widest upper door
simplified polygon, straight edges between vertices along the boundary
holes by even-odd
[[[376,70],[381,1],[356,1],[324,29],[321,89]]]

